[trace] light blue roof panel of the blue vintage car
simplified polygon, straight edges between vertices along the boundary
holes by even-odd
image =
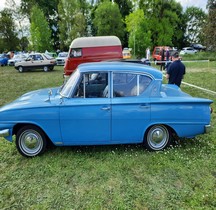
[[[128,62],[93,62],[80,64],[78,66],[80,72],[86,71],[129,71],[136,73],[145,73],[153,76],[156,80],[162,80],[163,74],[159,70],[144,64],[128,63]]]

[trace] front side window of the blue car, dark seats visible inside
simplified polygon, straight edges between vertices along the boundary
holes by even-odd
[[[105,98],[108,97],[108,73],[87,73],[81,76],[75,97]]]

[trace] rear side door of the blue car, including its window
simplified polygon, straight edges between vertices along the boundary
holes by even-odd
[[[151,108],[149,97],[145,97],[144,92],[151,81],[152,79],[145,75],[113,73],[113,144],[143,141]]]

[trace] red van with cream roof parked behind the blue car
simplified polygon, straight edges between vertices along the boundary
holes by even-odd
[[[67,78],[81,63],[122,59],[121,41],[116,36],[80,37],[72,41],[64,65]]]

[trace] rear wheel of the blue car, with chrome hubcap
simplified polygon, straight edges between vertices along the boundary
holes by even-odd
[[[147,130],[144,145],[149,151],[160,151],[171,144],[172,135],[164,125],[154,125]]]

